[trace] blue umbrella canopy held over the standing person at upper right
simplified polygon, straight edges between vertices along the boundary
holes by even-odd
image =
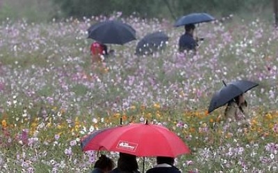
[[[181,18],[179,18],[174,26],[179,27],[179,26],[184,26],[187,24],[199,24],[203,22],[208,22],[208,21],[213,21],[215,20],[214,17],[211,15],[208,15],[207,13],[191,13],[189,15],[185,15]]]

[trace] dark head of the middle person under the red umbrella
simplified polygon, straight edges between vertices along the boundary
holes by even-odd
[[[136,156],[120,153],[120,158],[117,160],[117,167],[122,172],[133,172],[138,170]]]

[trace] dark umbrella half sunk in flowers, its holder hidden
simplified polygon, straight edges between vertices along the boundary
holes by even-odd
[[[149,33],[136,46],[136,55],[150,54],[166,45],[169,37],[163,31]]]

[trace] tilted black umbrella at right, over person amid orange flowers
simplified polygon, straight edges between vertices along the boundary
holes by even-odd
[[[246,91],[249,91],[250,89],[258,85],[259,84],[256,84],[248,80],[237,80],[227,85],[225,84],[225,86],[223,86],[222,89],[214,93],[213,98],[211,99],[211,103],[208,107],[208,113],[211,113],[214,109],[217,109],[218,107],[224,106],[224,104],[227,104],[229,101],[233,100],[238,95],[245,93]]]

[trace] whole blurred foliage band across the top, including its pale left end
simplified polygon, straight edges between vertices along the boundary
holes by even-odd
[[[177,19],[190,12],[210,12],[227,16],[238,12],[263,12],[272,8],[272,1],[259,0],[3,0],[0,1],[0,20],[28,19],[28,21],[49,21],[62,17],[91,17],[122,12],[123,17]]]

